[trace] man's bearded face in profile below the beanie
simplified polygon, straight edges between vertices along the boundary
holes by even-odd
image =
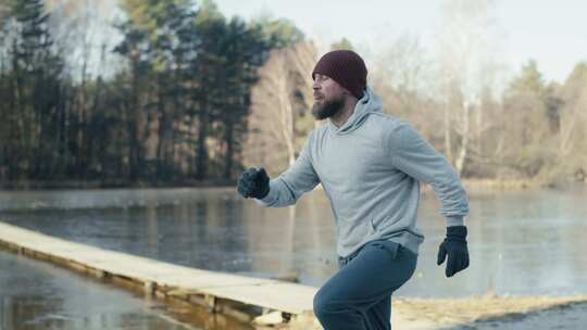
[[[328,76],[315,74],[312,115],[322,120],[338,114],[345,105],[345,89]]]

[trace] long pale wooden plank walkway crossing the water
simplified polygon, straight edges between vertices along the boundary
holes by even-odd
[[[289,314],[312,310],[316,288],[271,279],[196,269],[121,252],[70,242],[0,223],[0,242],[27,249],[42,256],[77,263],[99,275],[128,278],[143,284],[201,293]]]

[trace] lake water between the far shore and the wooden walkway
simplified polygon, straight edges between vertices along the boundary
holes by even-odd
[[[473,194],[471,266],[436,266],[446,223],[423,198],[426,236],[402,296],[587,293],[587,189]],[[322,191],[296,207],[262,208],[234,189],[1,192],[0,218],[51,236],[197,268],[296,277],[321,285],[336,271],[335,228]]]

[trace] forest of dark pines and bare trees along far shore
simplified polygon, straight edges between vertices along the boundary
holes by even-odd
[[[559,82],[528,59],[502,84],[490,16],[447,10],[434,54],[404,35],[370,56],[369,85],[465,179],[585,180],[587,63]],[[324,51],[287,20],[210,0],[0,0],[0,186],[278,175],[323,124],[310,73]]]

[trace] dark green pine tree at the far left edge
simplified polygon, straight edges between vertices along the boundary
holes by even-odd
[[[9,24],[15,30],[8,52],[15,110],[11,137],[18,141],[11,149],[15,155],[11,172],[47,178],[60,161],[53,148],[63,61],[55,54],[41,0],[13,0],[10,12]]]

